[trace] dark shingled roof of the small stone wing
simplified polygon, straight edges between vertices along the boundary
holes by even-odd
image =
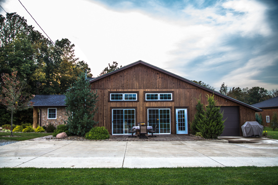
[[[66,95],[35,95],[31,102],[34,102],[33,106],[66,106]]]

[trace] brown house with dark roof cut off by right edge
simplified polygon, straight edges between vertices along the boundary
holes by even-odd
[[[253,104],[252,106],[258,107],[263,110],[263,112],[260,113],[262,114],[264,126],[269,127],[269,123],[272,119],[273,113],[277,112],[278,114],[278,96],[262,101],[260,103]],[[260,113],[258,112],[258,114]]]

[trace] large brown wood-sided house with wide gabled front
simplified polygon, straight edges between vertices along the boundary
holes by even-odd
[[[153,128],[158,123],[156,134],[190,134],[189,122],[200,94],[206,105],[206,95],[214,93],[217,106],[224,110],[227,119],[221,136],[241,136],[241,126],[255,121],[255,111],[261,111],[142,60],[89,82],[99,95],[94,119],[111,135],[128,134],[126,124],[131,127],[137,122]]]

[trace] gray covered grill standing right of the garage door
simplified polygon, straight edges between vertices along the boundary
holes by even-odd
[[[246,121],[243,126],[241,126],[243,137],[250,136],[261,136],[263,131],[263,126],[257,121]]]

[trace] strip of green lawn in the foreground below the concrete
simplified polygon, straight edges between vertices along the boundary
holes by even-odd
[[[278,167],[0,168],[0,184],[278,184]]]

